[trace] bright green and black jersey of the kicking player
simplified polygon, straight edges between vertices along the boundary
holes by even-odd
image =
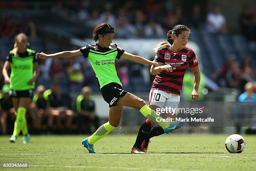
[[[103,48],[99,44],[87,45],[80,48],[84,58],[88,58],[99,80],[100,88],[115,82],[122,85],[115,69],[115,58],[120,59],[124,50],[116,44]]]

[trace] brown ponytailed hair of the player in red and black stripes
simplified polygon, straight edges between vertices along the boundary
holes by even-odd
[[[187,28],[184,25],[176,25],[172,28],[172,30],[169,30],[167,33],[167,41],[162,41],[156,45],[156,48],[154,48],[155,51],[157,51],[159,48],[164,46],[170,46],[174,42],[173,35],[175,34],[177,37],[182,31],[188,31],[190,33],[189,28]]]

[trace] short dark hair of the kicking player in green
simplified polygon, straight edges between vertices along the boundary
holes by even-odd
[[[115,33],[115,30],[110,24],[107,23],[101,23],[98,26],[96,26],[92,33],[92,38],[96,42],[99,40],[99,34],[102,36],[105,36],[108,33]]]

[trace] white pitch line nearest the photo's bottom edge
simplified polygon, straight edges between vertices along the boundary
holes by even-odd
[[[131,167],[103,167],[103,166],[60,166],[60,165],[29,165],[32,167],[61,167],[61,168],[100,168],[100,169],[118,169],[118,170],[146,170],[146,171],[180,171],[171,168],[131,168]],[[188,170],[188,171],[205,171],[205,170]]]

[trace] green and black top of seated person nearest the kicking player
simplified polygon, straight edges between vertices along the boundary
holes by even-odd
[[[93,97],[90,96],[89,100],[85,101],[84,96],[80,94],[77,97],[76,109],[77,109],[77,112],[81,110],[93,112],[95,110],[95,103],[94,103]]]

